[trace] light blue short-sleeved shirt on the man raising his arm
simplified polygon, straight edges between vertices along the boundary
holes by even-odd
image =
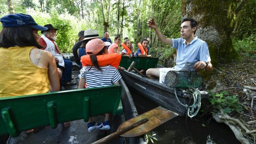
[[[175,70],[181,70],[186,62],[211,61],[207,43],[197,37],[188,45],[186,45],[186,40],[183,38],[173,38],[172,47],[177,50]]]

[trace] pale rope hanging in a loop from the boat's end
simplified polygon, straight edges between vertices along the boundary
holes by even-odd
[[[187,108],[187,110],[188,110],[187,115],[188,115],[190,118],[196,116],[196,114],[199,112],[200,107],[201,107],[201,95],[200,95],[199,90],[198,90],[198,89],[195,89],[195,91],[192,93],[194,102],[193,102],[193,104],[192,104],[191,106],[188,106],[187,104],[182,104],[182,103],[180,102],[180,100],[178,99],[178,96],[177,96],[177,94],[176,94],[176,88],[174,88],[174,93],[175,93],[175,96],[176,96],[178,102],[179,102],[182,106],[184,106],[184,107]],[[195,109],[196,109],[196,110],[195,110]],[[195,112],[194,112],[194,110],[195,110]]]

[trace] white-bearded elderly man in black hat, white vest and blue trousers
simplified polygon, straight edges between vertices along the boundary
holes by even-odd
[[[74,85],[76,83],[72,82],[72,62],[68,58],[63,58],[60,49],[56,44],[56,34],[57,28],[54,28],[52,24],[46,24],[44,27],[48,30],[41,31],[42,36],[39,38],[39,43],[41,46],[44,46],[42,50],[47,50],[52,53],[55,58],[57,67],[60,68],[63,72],[62,78],[63,82],[66,85]]]

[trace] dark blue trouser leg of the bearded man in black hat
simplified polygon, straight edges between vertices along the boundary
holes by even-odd
[[[65,58],[64,65],[65,65],[65,68],[63,71],[62,78],[63,78],[64,83],[66,83],[66,82],[70,82],[72,80],[72,65],[73,64],[69,59]]]

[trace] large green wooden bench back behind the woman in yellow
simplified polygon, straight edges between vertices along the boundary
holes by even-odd
[[[120,85],[0,98],[0,136],[112,113],[123,113]]]

